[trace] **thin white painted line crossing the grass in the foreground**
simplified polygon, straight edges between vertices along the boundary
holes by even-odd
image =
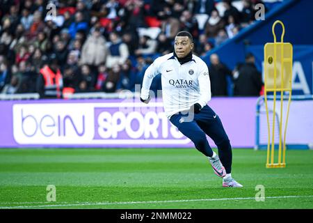
[[[265,199],[287,199],[287,198],[300,198],[300,197],[313,197],[313,195],[307,196],[281,196],[281,197],[265,197]],[[232,200],[252,200],[255,197],[233,197],[233,198],[216,198],[216,199],[188,199],[188,200],[172,200],[172,201],[117,201],[117,202],[81,202],[81,203],[68,203],[68,204],[51,204],[51,205],[36,205],[36,206],[0,206],[0,209],[10,208],[53,208],[53,207],[71,207],[71,206],[96,206],[96,205],[114,205],[114,204],[136,204],[136,203],[179,203],[179,202],[191,202],[191,201],[232,201]],[[17,203],[17,202],[16,202]],[[31,202],[21,202],[31,203]],[[21,204],[19,203],[19,204]],[[34,204],[35,202],[33,202]],[[46,203],[46,202],[38,202]],[[51,203],[51,202],[49,202]],[[59,202],[61,203],[61,202]],[[63,202],[66,203],[66,202]]]

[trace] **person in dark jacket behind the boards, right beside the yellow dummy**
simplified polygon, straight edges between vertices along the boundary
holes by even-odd
[[[259,96],[262,89],[262,75],[255,67],[255,56],[248,54],[246,63],[234,70],[234,95]]]

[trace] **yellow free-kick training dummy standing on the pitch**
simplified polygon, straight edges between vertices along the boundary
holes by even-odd
[[[280,43],[276,41],[275,26],[282,26],[282,36]],[[291,79],[292,79],[292,45],[284,43],[284,24],[281,21],[274,22],[272,26],[274,43],[264,45],[264,101],[266,107],[266,120],[268,126],[268,145],[266,156],[266,167],[286,167],[286,132],[289,116],[289,105],[291,102]],[[287,115],[284,125],[284,137],[282,137],[283,121],[283,102],[284,91],[289,93]],[[268,93],[273,93],[273,123],[272,132],[269,121]],[[275,118],[276,118],[276,99],[277,93],[280,93],[280,117],[279,117],[279,145],[278,145],[278,162],[275,163]],[[272,133],[272,134],[271,134]]]

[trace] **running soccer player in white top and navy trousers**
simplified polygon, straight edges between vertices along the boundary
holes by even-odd
[[[141,101],[150,101],[152,79],[161,74],[163,107],[170,122],[191,139],[209,159],[214,173],[223,178],[223,187],[242,187],[232,178],[232,146],[218,115],[207,105],[211,86],[207,64],[193,55],[193,37],[187,31],[175,36],[174,52],[160,56],[147,68]],[[212,151],[206,134],[218,147]]]

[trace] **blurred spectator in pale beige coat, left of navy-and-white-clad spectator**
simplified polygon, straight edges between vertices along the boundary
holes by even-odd
[[[107,55],[108,49],[106,47],[106,40],[101,36],[99,29],[95,29],[83,45],[81,50],[81,63],[90,66],[98,66],[100,63],[106,61]]]

